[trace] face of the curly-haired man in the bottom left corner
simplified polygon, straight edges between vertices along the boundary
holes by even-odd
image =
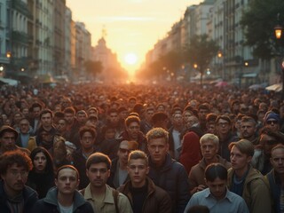
[[[25,187],[28,180],[28,170],[16,163],[8,167],[6,173],[1,175],[7,193],[19,194]]]

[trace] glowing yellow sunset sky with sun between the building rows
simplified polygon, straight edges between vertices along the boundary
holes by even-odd
[[[95,46],[106,28],[106,45],[129,71],[183,18],[185,9],[201,0],[67,0],[75,21],[85,23]],[[126,59],[125,59],[126,57]],[[137,57],[137,61],[136,61]],[[127,62],[128,61],[128,62]]]

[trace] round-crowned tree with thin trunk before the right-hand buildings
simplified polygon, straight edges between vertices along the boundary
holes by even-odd
[[[211,60],[217,55],[219,47],[207,35],[193,36],[190,43],[185,45],[185,61],[192,66],[196,65],[201,73],[201,86],[204,71],[209,67]]]

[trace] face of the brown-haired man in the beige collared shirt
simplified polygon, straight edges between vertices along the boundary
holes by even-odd
[[[93,163],[86,170],[87,177],[93,187],[101,188],[106,185],[107,178],[110,175],[110,170],[107,170],[105,162]]]

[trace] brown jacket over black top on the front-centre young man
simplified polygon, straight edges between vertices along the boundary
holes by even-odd
[[[171,201],[170,195],[166,193],[159,186],[154,185],[154,182],[146,177],[148,182],[146,200],[143,204],[142,212],[145,213],[170,213]],[[118,188],[120,193],[124,193],[130,200],[131,206],[133,205],[132,195],[130,193],[131,181],[127,181],[125,185]]]

